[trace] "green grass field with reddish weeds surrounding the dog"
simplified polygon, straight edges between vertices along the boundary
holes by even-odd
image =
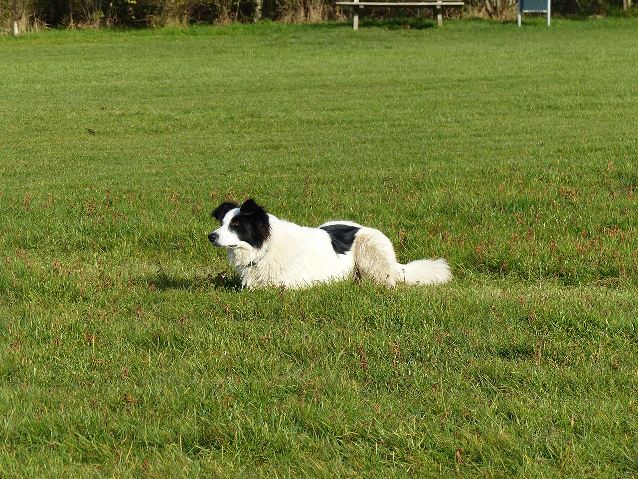
[[[0,476],[638,476],[638,19],[0,38]],[[255,197],[443,287],[240,291]]]

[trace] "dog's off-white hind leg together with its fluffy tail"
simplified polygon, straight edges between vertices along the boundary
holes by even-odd
[[[396,261],[390,239],[372,228],[362,228],[354,244],[355,267],[360,277],[394,287],[403,284],[443,284],[452,278],[445,259],[419,259],[408,264]]]

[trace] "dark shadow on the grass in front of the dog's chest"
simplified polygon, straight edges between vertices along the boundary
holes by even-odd
[[[216,273],[202,273],[194,277],[177,277],[164,270],[155,274],[135,278],[133,284],[144,285],[151,291],[205,291],[216,289],[219,291],[240,291],[241,283],[235,275],[229,275],[226,271]]]

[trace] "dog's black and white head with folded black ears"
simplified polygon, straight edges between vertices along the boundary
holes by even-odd
[[[239,206],[223,202],[213,212],[221,227],[208,235],[213,246],[220,248],[260,249],[271,234],[268,213],[249,199]]]

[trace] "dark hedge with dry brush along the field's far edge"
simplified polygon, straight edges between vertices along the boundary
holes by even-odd
[[[629,0],[553,0],[553,14],[597,15],[627,8]],[[512,19],[517,0],[467,0],[463,11],[472,15]],[[388,11],[372,16],[431,15],[427,9]],[[348,11],[334,0],[0,0],[0,33],[19,34],[45,27],[108,28],[111,26],[185,26],[270,19],[282,22],[343,20]],[[376,13],[376,15],[375,15]]]

